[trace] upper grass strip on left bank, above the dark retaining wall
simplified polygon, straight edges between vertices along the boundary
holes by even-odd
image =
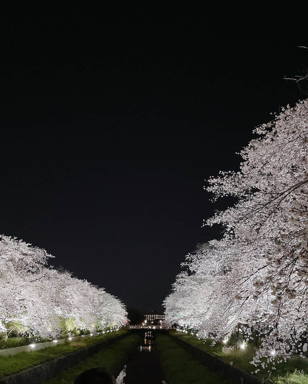
[[[93,338],[82,338],[70,343],[58,344],[55,347],[40,349],[39,351],[22,352],[15,356],[0,356],[0,378],[16,372],[23,371],[46,361],[56,359],[68,353],[85,348],[89,345],[99,343],[100,341],[112,339],[120,334],[126,333],[126,329],[120,329],[117,332],[105,333]]]

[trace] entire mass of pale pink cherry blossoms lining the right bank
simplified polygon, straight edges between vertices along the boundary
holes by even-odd
[[[214,201],[235,200],[204,223],[220,225],[222,239],[187,256],[164,305],[169,322],[202,338],[240,328],[258,346],[252,363],[275,369],[302,354],[307,338],[308,99],[255,133],[240,171],[208,180]]]

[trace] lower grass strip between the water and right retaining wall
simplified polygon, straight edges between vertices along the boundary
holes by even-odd
[[[227,384],[219,374],[210,371],[168,335],[158,335],[162,369],[168,384]]]

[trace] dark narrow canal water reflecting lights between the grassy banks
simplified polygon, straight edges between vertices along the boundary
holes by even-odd
[[[145,334],[142,344],[131,356],[117,377],[117,384],[166,384],[159,354],[151,332]]]

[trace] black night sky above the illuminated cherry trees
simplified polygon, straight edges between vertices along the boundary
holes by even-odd
[[[144,310],[219,237],[204,179],[305,97],[283,80],[307,63],[295,15],[197,14],[3,28],[0,232]]]

